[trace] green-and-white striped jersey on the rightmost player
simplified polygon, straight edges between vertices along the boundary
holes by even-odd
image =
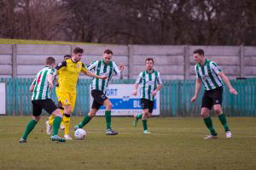
[[[224,85],[221,78],[218,77],[219,72],[221,72],[221,69],[210,59],[206,59],[205,64],[202,66],[199,64],[195,65],[196,77],[201,79],[206,90],[212,90]]]

